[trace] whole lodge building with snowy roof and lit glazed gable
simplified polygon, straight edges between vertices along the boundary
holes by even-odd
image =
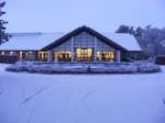
[[[129,34],[98,33],[80,26],[70,33],[11,33],[0,46],[0,59],[40,62],[125,62],[145,58]],[[12,60],[12,59],[10,59]]]

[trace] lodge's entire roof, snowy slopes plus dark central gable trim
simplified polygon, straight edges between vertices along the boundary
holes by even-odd
[[[9,42],[0,45],[0,51],[41,51],[51,49],[66,42],[72,36],[88,32],[102,42],[120,51],[141,51],[140,45],[132,35],[117,33],[98,33],[95,30],[80,26],[70,33],[11,33]]]

